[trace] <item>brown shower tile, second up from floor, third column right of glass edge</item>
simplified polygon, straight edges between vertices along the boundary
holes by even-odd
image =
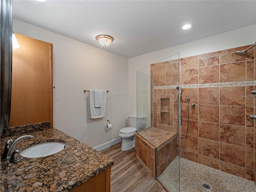
[[[220,160],[245,167],[245,147],[220,142]]]

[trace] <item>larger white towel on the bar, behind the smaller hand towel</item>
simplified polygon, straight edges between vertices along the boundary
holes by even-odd
[[[88,104],[89,104],[88,109],[89,109],[90,119],[106,117],[107,91],[103,91],[102,107],[94,107],[94,90],[90,90]]]

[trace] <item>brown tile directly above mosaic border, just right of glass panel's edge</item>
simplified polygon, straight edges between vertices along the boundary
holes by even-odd
[[[181,70],[181,76],[181,84],[198,84],[198,68]]]

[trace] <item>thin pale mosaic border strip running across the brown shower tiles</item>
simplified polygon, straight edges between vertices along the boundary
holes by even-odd
[[[188,85],[180,85],[180,88],[254,86],[254,83],[255,83],[255,81],[188,84]],[[154,86],[153,89],[176,89],[177,87],[178,87],[178,85]]]

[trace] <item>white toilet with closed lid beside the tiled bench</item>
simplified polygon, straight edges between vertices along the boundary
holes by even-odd
[[[131,127],[125,127],[119,131],[119,137],[122,138],[121,151],[127,151],[134,148],[135,133],[143,129],[146,124],[146,116],[132,114],[129,117],[130,117]],[[137,124],[138,124],[138,127],[137,127]]]

